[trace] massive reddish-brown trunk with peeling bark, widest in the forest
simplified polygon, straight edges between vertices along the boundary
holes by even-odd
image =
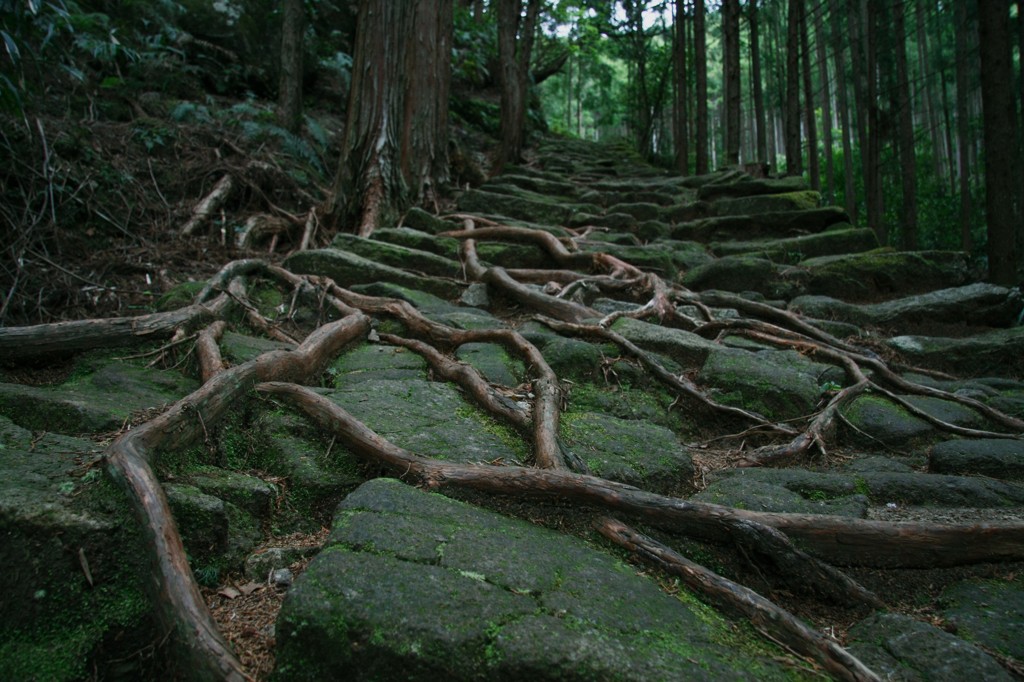
[[[329,223],[367,237],[447,181],[452,12],[452,0],[359,3]]]

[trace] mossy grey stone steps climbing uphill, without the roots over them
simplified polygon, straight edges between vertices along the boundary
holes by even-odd
[[[798,178],[753,179],[737,171],[680,177],[625,146],[548,140],[529,164],[462,193],[457,207],[478,226],[543,230],[574,252],[610,254],[698,294],[716,319],[744,316],[748,303],[799,312],[893,367],[905,365],[914,382],[1024,418],[1020,292],[977,283],[962,253],[880,249],[871,230],[819,206]],[[1024,519],[1022,441],[950,435],[921,413],[962,428],[1000,427],[935,396],[907,395],[908,408],[862,394],[842,408],[827,456],[786,468],[737,466],[745,441],[723,437],[742,425],[680,401],[614,344],[560,334],[506,292],[467,282],[460,241],[444,236],[463,219],[414,209],[401,226],[377,229],[371,239],[339,235],[330,248],[293,254],[285,266],[406,301],[457,330],[519,331],[562,382],[561,446],[596,476],[754,511]],[[559,268],[532,244],[479,240],[476,251],[485,266]],[[611,295],[555,279],[529,286],[601,315],[646,302],[628,290]],[[289,296],[269,285],[250,294],[265,317],[283,323],[298,318]],[[696,301],[679,301],[678,309],[700,315]],[[316,322],[316,314],[299,314]],[[375,337],[408,331],[386,315],[375,326]],[[656,317],[629,316],[611,329],[718,403],[772,422],[806,418],[850,383],[836,365],[738,333],[705,338]],[[220,345],[233,365],[287,347],[239,324]],[[0,678],[77,679],[84,669],[76,662],[123,653],[108,643],[115,633],[133,630],[143,640],[153,633],[143,567],[118,561],[137,555],[132,548],[140,541],[117,491],[89,472],[104,433],[196,384],[179,370],[147,368],[124,354],[80,356],[49,385],[0,384],[0,457],[14,472],[0,481],[0,557],[27,567],[0,597],[0,612],[17,614],[0,625]],[[464,344],[454,356],[513,409],[531,399],[532,368],[503,346]],[[529,463],[529,443],[518,432],[436,379],[406,348],[360,343],[332,363],[317,391],[415,453],[470,464]],[[48,435],[39,437],[42,431]],[[273,631],[274,679],[810,676],[804,663],[749,626],[624,563],[588,530],[591,512],[558,505],[531,511],[517,501],[473,497],[457,502],[376,478],[379,472],[343,442],[283,403],[240,406],[226,422],[210,425],[207,442],[164,453],[160,473],[193,570],[211,585],[238,570],[265,581],[318,552],[290,588]],[[323,548],[295,553],[274,546],[279,535],[322,523],[332,525]],[[724,558],[713,545],[684,544],[695,559],[736,580],[759,580],[757,568]],[[887,586],[899,583],[899,571],[865,571],[858,578],[893,612],[837,606],[837,625],[859,622],[850,631],[851,650],[883,677],[1010,679],[1008,670],[1024,662],[1024,582],[1014,566],[937,570],[892,594]],[[927,619],[906,614],[912,600]],[[78,638],[63,655],[39,668],[42,652],[74,628]],[[124,677],[146,675],[144,664],[132,665]]]

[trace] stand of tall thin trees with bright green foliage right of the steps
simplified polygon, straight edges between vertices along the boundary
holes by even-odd
[[[987,240],[992,279],[1018,283],[1020,0],[556,4],[555,130],[628,136],[687,173],[803,174],[883,244]]]

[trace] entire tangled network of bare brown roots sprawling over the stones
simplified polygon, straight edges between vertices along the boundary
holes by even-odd
[[[573,250],[575,245],[571,241],[566,244],[547,232],[496,224],[477,229],[474,228],[477,218],[463,218],[465,229],[449,232],[449,236],[462,240],[461,254],[469,280],[486,283],[540,315],[538,319],[556,332],[615,344],[678,397],[741,423],[753,424],[763,437],[782,436],[788,440],[756,450],[749,455],[745,464],[768,464],[814,447],[825,452],[841,408],[867,390],[884,395],[937,428],[958,435],[1013,438],[1021,437],[1024,431],[1021,420],[980,401],[907,381],[868,349],[836,339],[794,313],[732,295],[696,294],[670,286],[660,278],[642,272],[616,258]],[[315,213],[311,212],[307,226],[315,222]],[[311,233],[311,229],[307,229],[310,239]],[[562,269],[486,267],[476,254],[477,238],[528,241],[545,249]],[[574,269],[586,271],[575,272]],[[245,278],[254,276],[267,278],[291,289],[293,310],[297,301],[302,300],[322,313],[330,308],[331,312],[341,315],[341,319],[318,327],[299,343],[297,338],[301,334],[271,323],[249,303]],[[556,284],[545,292],[530,283]],[[645,297],[646,300],[635,310],[602,316],[588,305],[572,300],[574,290],[583,286],[596,286],[601,291],[615,291],[633,299],[644,301],[642,297]],[[695,306],[695,316],[699,318],[680,312],[677,303]],[[294,350],[264,353],[252,361],[225,369],[217,339],[226,328],[222,322],[225,312],[234,305],[242,307],[250,325],[266,336],[296,346]],[[716,319],[713,306],[732,307],[755,318]],[[370,314],[397,319],[407,330],[404,336],[381,334],[380,341],[419,353],[426,358],[433,376],[456,382],[488,414],[527,437],[532,445],[535,466],[466,465],[417,456],[383,439],[325,396],[292,383],[313,381],[344,345],[366,337],[370,332]],[[820,411],[806,423],[799,426],[775,423],[754,412],[718,403],[685,375],[677,376],[666,370],[651,353],[609,329],[624,314],[657,316],[665,325],[695,331],[709,338],[729,333],[775,347],[793,348],[842,367],[849,385],[830,392]],[[291,317],[291,311],[286,317]],[[568,453],[559,443],[558,425],[563,403],[559,379],[540,350],[519,333],[455,329],[427,318],[404,301],[356,294],[327,279],[300,276],[262,261],[227,264],[208,283],[195,304],[177,311],[0,329],[0,353],[6,358],[20,359],[100,346],[123,346],[175,335],[180,338],[197,332],[202,387],[157,419],[124,433],[108,451],[109,470],[127,492],[145,528],[154,561],[160,622],[182,646],[197,677],[241,680],[245,679],[245,673],[217,632],[191,579],[154,464],[160,452],[186,446],[207,437],[207,429],[231,406],[250,397],[254,390],[287,398],[334,433],[350,451],[407,481],[430,488],[462,487],[496,495],[574,501],[627,514],[672,534],[710,542],[729,542],[752,560],[767,561],[773,567],[773,574],[788,576],[794,584],[844,603],[882,606],[878,596],[835,566],[936,567],[1024,560],[1024,524],[888,523],[839,516],[754,512],[656,495],[589,475],[581,461],[567,461]],[[528,390],[532,393],[526,407],[489,385],[475,369],[449,356],[459,346],[471,342],[501,344],[522,359],[527,368]],[[522,390],[525,394],[526,389]],[[894,391],[954,400],[1005,430],[968,429],[948,424],[915,408]],[[751,620],[774,640],[812,657],[830,674],[849,680],[877,679],[836,642],[814,633],[764,597],[687,561],[670,548],[617,521],[604,520],[600,530],[644,560],[680,576],[711,601]]]

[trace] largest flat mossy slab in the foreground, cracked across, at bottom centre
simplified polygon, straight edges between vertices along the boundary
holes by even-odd
[[[370,481],[276,624],[278,680],[770,680],[778,651],[572,537]]]

